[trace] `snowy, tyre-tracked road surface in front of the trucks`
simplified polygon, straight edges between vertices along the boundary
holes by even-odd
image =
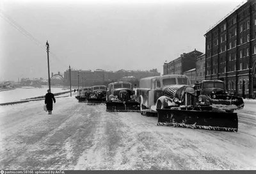
[[[157,126],[74,96],[58,99],[52,115],[43,105],[0,107],[1,170],[256,170],[253,102],[238,111],[238,132]]]

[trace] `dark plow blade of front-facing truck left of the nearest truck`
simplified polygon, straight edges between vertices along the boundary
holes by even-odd
[[[140,112],[140,104],[138,102],[106,102],[109,112]]]

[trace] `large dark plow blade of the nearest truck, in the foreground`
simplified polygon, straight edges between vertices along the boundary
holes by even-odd
[[[157,125],[207,129],[213,131],[238,131],[237,113],[157,109],[157,115]]]

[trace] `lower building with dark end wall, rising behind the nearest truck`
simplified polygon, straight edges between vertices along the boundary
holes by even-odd
[[[163,74],[183,74],[184,72],[196,68],[196,57],[202,55],[200,51],[191,51],[188,53],[180,54],[180,57],[164,63]]]

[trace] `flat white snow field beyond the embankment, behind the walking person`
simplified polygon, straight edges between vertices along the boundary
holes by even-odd
[[[15,90],[0,91],[0,103],[15,102],[22,99],[39,97],[47,93],[48,88],[16,88]],[[52,93],[59,93],[65,90],[51,88]]]

